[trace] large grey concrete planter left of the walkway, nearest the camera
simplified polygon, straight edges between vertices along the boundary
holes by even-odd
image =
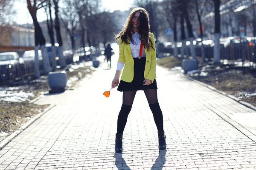
[[[66,71],[49,72],[48,84],[51,88],[49,93],[63,92],[67,85],[67,73]]]

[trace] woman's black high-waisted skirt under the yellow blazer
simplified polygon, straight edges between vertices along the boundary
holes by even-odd
[[[134,58],[134,79],[132,82],[120,81],[117,90],[118,91],[138,91],[145,89],[157,89],[157,81],[154,79],[150,85],[144,84],[144,70],[146,64],[146,57]]]

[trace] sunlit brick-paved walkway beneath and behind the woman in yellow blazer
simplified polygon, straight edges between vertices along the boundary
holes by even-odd
[[[0,150],[0,170],[256,169],[256,120],[247,120],[256,112],[161,67],[157,86],[167,150],[157,148],[157,128],[139,91],[124,131],[124,152],[114,153],[122,93],[113,89],[109,98],[103,96],[116,65],[105,68],[74,90],[39,99],[37,104],[54,107]]]

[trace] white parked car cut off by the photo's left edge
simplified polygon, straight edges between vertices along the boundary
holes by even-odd
[[[24,64],[24,60],[16,52],[0,53],[0,65],[7,65],[12,68],[18,64]]]

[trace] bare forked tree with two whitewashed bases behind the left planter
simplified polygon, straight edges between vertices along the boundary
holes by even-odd
[[[38,45],[40,45],[42,55],[43,55],[43,65],[44,65],[44,73],[48,74],[51,71],[49,57],[47,54],[47,49],[45,47],[45,39],[42,32],[42,29],[37,20],[37,10],[46,6],[47,0],[34,0],[34,4],[31,4],[30,0],[27,0],[29,13],[31,14],[34,26],[35,26],[35,77],[39,78],[39,61],[38,61]]]

